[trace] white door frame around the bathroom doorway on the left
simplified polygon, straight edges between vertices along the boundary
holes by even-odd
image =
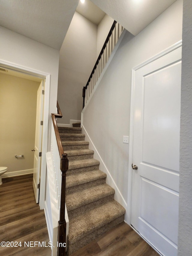
[[[41,78],[44,83],[44,104],[43,104],[43,134],[42,134],[42,156],[41,156],[41,189],[39,194],[40,210],[44,209],[45,203],[45,185],[46,185],[46,152],[48,143],[48,122],[49,122],[49,91],[50,91],[50,74],[17,65],[12,62],[0,59],[0,65],[4,68],[9,68],[20,73]]]

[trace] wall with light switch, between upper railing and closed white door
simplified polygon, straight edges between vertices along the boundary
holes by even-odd
[[[137,36],[125,34],[83,113],[83,126],[126,202],[129,145],[123,135],[129,135],[131,69],[181,39],[182,0],[177,0]]]

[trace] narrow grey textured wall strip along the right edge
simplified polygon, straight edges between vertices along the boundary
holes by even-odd
[[[192,3],[183,3],[178,256],[192,254]]]

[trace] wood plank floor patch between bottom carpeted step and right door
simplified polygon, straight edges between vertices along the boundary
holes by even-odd
[[[70,256],[159,256],[128,224],[119,224]]]

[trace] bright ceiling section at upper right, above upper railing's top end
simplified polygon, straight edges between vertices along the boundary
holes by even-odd
[[[86,0],[85,0],[86,1]],[[137,35],[176,0],[91,0],[106,14]]]

